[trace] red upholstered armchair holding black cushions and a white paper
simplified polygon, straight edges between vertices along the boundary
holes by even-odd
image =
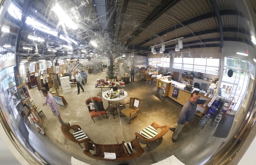
[[[91,97],[91,98],[88,98],[87,100],[85,100],[85,104],[86,105],[90,105],[90,102],[93,102],[94,105],[95,105],[95,102],[102,102],[102,99],[100,97]],[[101,103],[102,104],[102,103]],[[87,106],[88,109],[89,109],[89,112],[90,112],[90,116],[92,117],[92,120],[93,120],[93,117],[99,117],[99,116],[102,116],[102,115],[106,115],[106,118],[108,118],[107,116],[107,112],[106,110],[104,109],[103,107],[103,104],[101,107],[99,107],[99,109],[97,109],[97,107],[95,106],[95,109],[94,110],[91,110],[90,109],[90,106]],[[102,108],[103,107],[103,108]],[[93,120],[93,122],[95,123],[95,121]]]

